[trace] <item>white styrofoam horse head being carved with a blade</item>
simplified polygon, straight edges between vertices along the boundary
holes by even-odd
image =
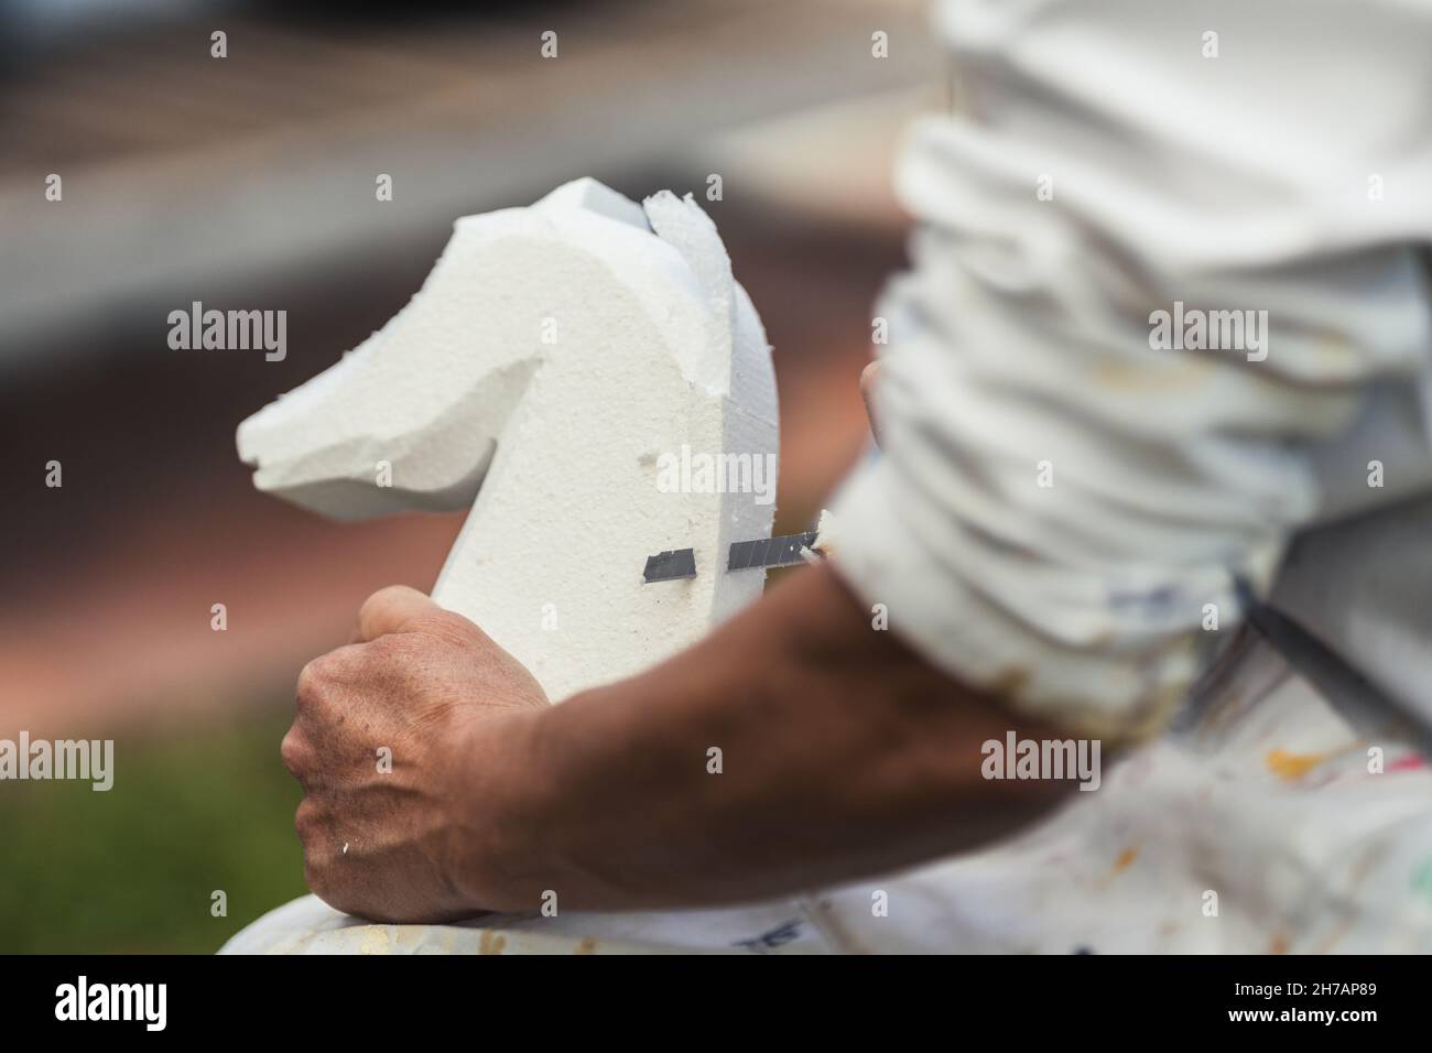
[[[581,179],[460,219],[379,332],[239,425],[255,486],[338,519],[471,513],[432,590],[548,696],[636,672],[759,595],[726,574],[770,533],[755,493],[673,493],[683,447],[773,456],[765,331],[687,196]],[[649,554],[697,576],[643,585]]]

